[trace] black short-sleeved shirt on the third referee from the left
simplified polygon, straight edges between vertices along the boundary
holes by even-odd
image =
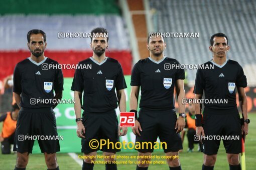
[[[132,86],[141,86],[140,108],[150,110],[168,110],[175,108],[173,96],[177,79],[185,79],[184,69],[168,65],[180,63],[173,58],[164,56],[159,61],[151,57],[139,60],[133,68]]]

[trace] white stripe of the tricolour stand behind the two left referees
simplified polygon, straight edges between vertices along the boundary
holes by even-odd
[[[79,25],[79,26],[78,26]],[[90,38],[58,38],[58,32],[86,32],[95,27],[109,30],[109,49],[129,50],[119,15],[4,15],[0,16],[0,50],[27,49],[27,32],[40,28],[47,34],[47,49],[90,49]],[[23,42],[23,43],[18,43]],[[24,43],[25,42],[25,43]]]

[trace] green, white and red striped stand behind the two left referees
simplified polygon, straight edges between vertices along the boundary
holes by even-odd
[[[73,64],[92,55],[90,37],[58,38],[58,32],[89,33],[95,27],[105,27],[109,32],[106,55],[116,58],[124,74],[130,74],[132,53],[124,21],[115,0],[77,0],[61,3],[45,0],[34,3],[23,0],[0,2],[0,81],[13,73],[14,66],[28,57],[27,32],[42,29],[47,34],[46,56],[62,64]],[[72,5],[71,5],[72,4]],[[40,5],[40,10],[37,6]],[[11,6],[11,8],[8,6]],[[9,9],[9,10],[7,10]],[[110,51],[110,52],[109,52]],[[8,58],[8,59],[7,59]],[[6,64],[6,62],[8,64]],[[65,77],[72,77],[73,70],[64,70]]]

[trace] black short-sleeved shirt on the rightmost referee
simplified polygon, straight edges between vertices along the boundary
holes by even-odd
[[[228,102],[204,103],[209,112],[231,113],[236,110],[235,86],[246,87],[247,80],[241,65],[237,61],[227,59],[221,66],[212,60],[205,62],[205,68],[213,65],[213,69],[198,69],[196,73],[194,93],[205,94],[205,99],[227,100]],[[220,100],[221,99],[221,100]]]

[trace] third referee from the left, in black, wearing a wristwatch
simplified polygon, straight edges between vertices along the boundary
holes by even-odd
[[[150,34],[148,37],[147,48],[150,57],[139,60],[133,68],[131,77],[131,111],[136,112],[135,127],[133,132],[136,135],[136,142],[154,142],[159,136],[162,142],[167,143],[167,148],[163,145],[167,156],[177,155],[182,149],[180,131],[185,126],[186,116],[185,105],[182,98],[185,98],[184,90],[184,69],[175,67],[171,69],[171,64],[179,66],[176,59],[164,56],[163,51],[166,43],[158,33]],[[138,97],[141,87],[141,101],[139,118],[137,117]],[[174,106],[174,87],[176,87],[179,118]],[[142,145],[142,144],[141,144]],[[154,148],[137,149],[139,151],[141,163],[137,164],[137,170],[148,169],[149,163],[142,163],[150,160]],[[146,157],[148,156],[148,157]],[[167,159],[170,169],[181,169],[178,158]]]

